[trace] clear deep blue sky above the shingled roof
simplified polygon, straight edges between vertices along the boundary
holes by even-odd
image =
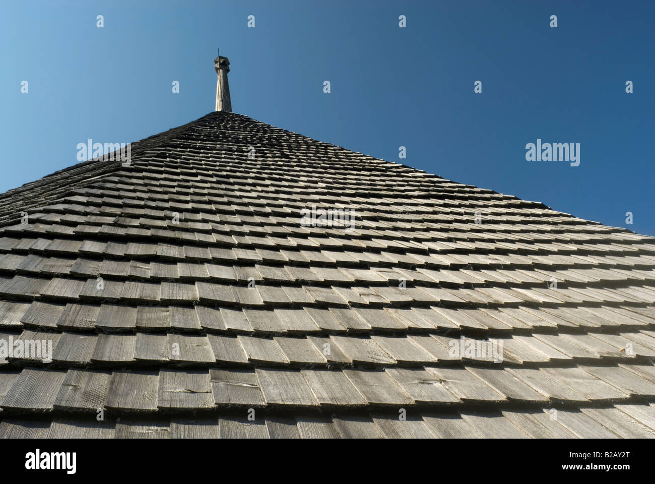
[[[220,47],[237,113],[655,235],[654,18],[652,1],[3,2],[0,192],[88,138],[213,111]],[[580,166],[526,161],[537,138],[580,143]]]

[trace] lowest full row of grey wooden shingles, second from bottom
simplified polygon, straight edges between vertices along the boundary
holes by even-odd
[[[607,364],[606,364],[607,365]],[[580,405],[655,398],[650,364],[578,367],[425,366],[364,369],[114,369],[3,371],[5,414],[114,415],[246,410]]]

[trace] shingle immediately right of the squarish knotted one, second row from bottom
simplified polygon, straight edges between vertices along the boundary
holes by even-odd
[[[210,369],[212,393],[217,405],[248,405],[263,407],[264,396],[259,387],[259,379],[250,370]]]

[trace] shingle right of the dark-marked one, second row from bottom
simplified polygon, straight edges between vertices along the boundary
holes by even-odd
[[[261,392],[269,405],[317,407],[318,401],[299,371],[256,369]]]

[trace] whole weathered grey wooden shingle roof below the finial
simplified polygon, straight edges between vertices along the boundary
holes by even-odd
[[[0,195],[3,340],[2,437],[652,437],[655,239],[219,111]]]

